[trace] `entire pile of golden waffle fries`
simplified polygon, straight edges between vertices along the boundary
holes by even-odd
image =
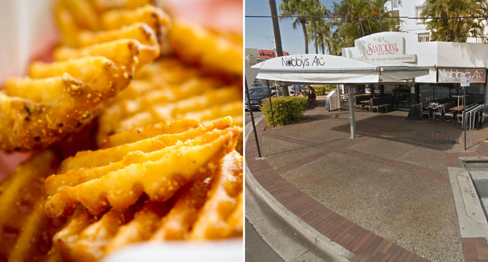
[[[172,19],[153,5],[58,0],[55,61],[5,84],[2,148],[50,150],[0,184],[0,258],[97,261],[141,241],[242,237],[241,60],[209,60],[212,48],[241,59],[242,46],[182,23],[169,45]],[[98,149],[62,159],[56,142],[96,117]]]

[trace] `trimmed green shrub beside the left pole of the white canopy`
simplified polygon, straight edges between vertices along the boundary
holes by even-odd
[[[273,117],[276,125],[287,125],[299,121],[303,117],[303,111],[307,109],[307,97],[300,96],[280,96],[272,97]],[[271,110],[269,101],[261,104],[261,111],[266,118],[268,126],[272,126]]]

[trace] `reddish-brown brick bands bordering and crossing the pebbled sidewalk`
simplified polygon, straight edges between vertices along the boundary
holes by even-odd
[[[358,115],[358,114],[356,114]],[[348,115],[347,115],[348,116]],[[343,118],[343,119],[341,119]],[[330,117],[332,121],[338,121],[342,123],[347,123],[345,116]],[[361,119],[361,117],[359,117]],[[346,120],[346,121],[344,121]],[[442,124],[441,124],[442,125]],[[273,132],[264,132],[265,121],[261,121],[258,126],[258,138],[260,144],[263,145],[263,136],[267,139],[273,139],[276,141],[286,141],[298,145],[299,147],[308,148],[322,148],[323,141],[312,142],[310,139],[300,139],[288,135],[280,135]],[[291,128],[292,126],[279,127],[279,128]],[[338,128],[340,129],[340,128]],[[439,134],[437,132],[430,132],[429,130],[420,130],[416,134],[421,134],[422,136],[440,137],[446,140],[458,141],[459,136],[448,136],[444,134]],[[471,136],[471,133],[470,137]],[[484,136],[486,133],[481,134]],[[303,135],[303,136],[306,136]],[[374,137],[374,136],[371,136]],[[394,167],[396,169],[413,172],[415,174],[420,174],[423,176],[430,177],[432,179],[448,182],[449,179],[447,174],[442,172],[436,172],[432,169],[425,167],[420,167],[407,163],[404,161],[399,161],[395,159],[390,159],[387,157],[381,157],[378,155],[373,155],[369,153],[363,153],[356,150],[351,150],[348,147],[354,146],[358,143],[364,141],[364,137],[360,137],[355,140],[343,139],[340,143],[334,141],[329,141],[326,150],[316,150],[316,153],[308,155],[305,158],[290,159],[287,163],[281,166],[273,168],[266,159],[256,159],[257,150],[254,142],[254,136],[250,136],[248,143],[246,145],[246,160],[247,164],[252,171],[256,179],[261,183],[261,185],[270,192],[278,201],[280,201],[285,207],[287,207],[291,212],[296,214],[298,217],[303,219],[316,230],[327,236],[332,241],[342,245],[351,252],[355,254],[353,260],[355,261],[421,261],[426,260],[425,258],[419,256],[418,254],[411,252],[399,245],[394,244],[387,239],[384,239],[371,231],[359,226],[358,224],[344,218],[338,213],[330,210],[329,208],[323,206],[313,198],[311,198],[306,193],[297,189],[293,184],[288,182],[282,177],[282,174],[293,170],[297,167],[306,165],[307,163],[331,154],[331,152],[340,153],[341,155],[355,157],[361,160],[366,160],[370,162],[375,162],[383,167]],[[462,142],[462,140],[461,140]],[[473,147],[473,152],[466,153],[462,152],[450,152],[459,151],[452,150],[451,148],[445,148],[446,152],[445,159],[447,166],[449,167],[459,167],[458,156],[472,156],[472,155],[488,155],[488,143],[482,142],[482,140],[468,140],[469,144],[477,144]],[[454,144],[454,143],[453,143]],[[426,146],[428,147],[428,146]],[[449,150],[451,149],[451,150]],[[268,156],[266,156],[268,158]],[[488,256],[488,245],[486,240],[483,239],[462,239],[462,246],[465,254],[465,258],[468,261],[479,261],[487,258]],[[475,260],[473,260],[475,259]],[[478,260],[476,260],[478,259]],[[488,261],[488,260],[487,260]]]

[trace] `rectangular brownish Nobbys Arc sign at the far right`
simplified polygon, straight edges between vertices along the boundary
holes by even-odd
[[[469,73],[469,83],[484,83],[486,69],[470,68],[438,68],[437,82],[439,83],[461,83],[461,78]]]

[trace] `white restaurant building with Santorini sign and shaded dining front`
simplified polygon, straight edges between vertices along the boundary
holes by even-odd
[[[414,81],[363,86],[363,92],[377,96],[403,97],[398,108],[408,109],[425,102],[459,100],[463,94],[461,78],[470,73],[467,105],[486,104],[488,45],[476,43],[418,42],[415,34],[380,32],[355,40],[354,47],[343,48],[345,57],[376,61],[406,62],[429,67],[429,75]],[[460,103],[462,104],[462,97]]]

